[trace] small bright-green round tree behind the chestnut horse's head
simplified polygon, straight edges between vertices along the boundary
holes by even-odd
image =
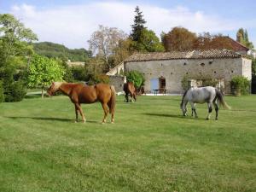
[[[61,81],[64,69],[54,59],[49,59],[40,55],[33,55],[28,71],[28,85],[30,87],[40,86],[42,98],[44,98],[44,88],[54,81]]]

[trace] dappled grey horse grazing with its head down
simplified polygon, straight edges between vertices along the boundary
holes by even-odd
[[[195,113],[195,118],[197,118],[197,113],[195,110],[195,103],[205,103],[207,102],[208,106],[208,115],[207,119],[210,119],[212,113],[212,103],[215,108],[216,116],[215,119],[218,119],[218,102],[224,107],[230,109],[228,104],[224,102],[224,96],[221,94],[219,90],[214,87],[200,87],[200,88],[190,88],[186,90],[183,94],[183,99],[180,104],[180,107],[183,111],[183,116],[187,116],[187,103],[189,102],[192,108],[192,117],[193,112]]]

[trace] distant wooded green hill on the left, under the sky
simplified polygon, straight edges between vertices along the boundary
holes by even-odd
[[[38,55],[49,58],[60,58],[63,61],[86,61],[91,57],[90,50],[86,49],[68,49],[62,44],[51,42],[40,42],[33,44],[34,50]]]

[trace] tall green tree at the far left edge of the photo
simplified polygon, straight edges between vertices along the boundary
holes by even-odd
[[[26,95],[23,82],[14,77],[20,62],[32,55],[33,40],[37,40],[37,35],[14,15],[0,15],[0,80],[6,102],[21,101]]]

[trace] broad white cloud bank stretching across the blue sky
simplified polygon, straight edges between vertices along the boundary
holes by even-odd
[[[98,25],[118,27],[130,33],[135,7],[136,4],[132,3],[104,2],[38,9],[21,4],[13,6],[11,12],[38,34],[39,41],[65,44],[69,48],[87,48],[87,40]],[[147,21],[146,26],[157,35],[170,31],[173,26],[183,26],[192,32],[223,32],[241,26],[237,21],[184,7],[165,9],[143,4],[139,7]]]

